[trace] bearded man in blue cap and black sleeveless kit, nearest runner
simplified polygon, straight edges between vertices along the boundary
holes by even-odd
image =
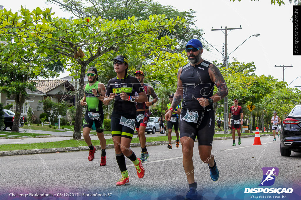
[[[182,101],[180,114],[180,141],[183,153],[183,167],[186,172],[189,192],[186,199],[198,199],[197,183],[194,181],[193,147],[197,137],[200,158],[208,163],[210,177],[213,181],[219,178],[214,156],[211,154],[214,135],[213,103],[228,95],[225,79],[219,69],[202,59],[203,45],[197,39],[186,45],[187,58],[190,63],[178,70],[178,84],[171,108],[165,115],[170,120],[173,110]],[[218,92],[213,95],[214,85]]]

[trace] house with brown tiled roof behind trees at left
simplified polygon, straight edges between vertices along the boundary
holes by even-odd
[[[46,97],[50,97],[52,101],[67,102],[70,105],[74,104],[74,86],[64,79],[58,80],[30,80],[36,82],[36,91],[30,91],[26,89],[28,96],[25,103],[22,106],[21,115],[26,115],[29,106],[34,112],[34,115],[38,116],[43,112],[43,104],[39,103],[40,100],[44,100]],[[13,104],[11,110],[14,112],[16,109],[16,103],[14,97],[7,98],[5,94],[0,95],[0,103],[4,106]]]

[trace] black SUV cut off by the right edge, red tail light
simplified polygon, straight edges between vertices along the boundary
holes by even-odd
[[[281,156],[290,156],[291,151],[301,152],[301,105],[296,105],[283,120],[280,135]]]

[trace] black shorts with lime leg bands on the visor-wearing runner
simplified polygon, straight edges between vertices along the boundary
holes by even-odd
[[[135,121],[135,119],[132,120]],[[120,124],[119,122],[120,122],[120,117],[111,117],[112,137],[121,136],[121,137],[132,139],[134,135],[135,125],[132,129],[130,127]]]

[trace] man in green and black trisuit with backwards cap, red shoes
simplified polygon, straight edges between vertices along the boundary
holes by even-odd
[[[80,100],[80,105],[87,106],[87,111],[82,123],[82,135],[87,143],[89,150],[88,160],[94,160],[97,149],[92,145],[89,136],[93,123],[95,123],[96,133],[101,145],[100,166],[106,165],[106,139],[104,138],[104,110],[101,101],[104,100],[106,87],[98,82],[97,70],[90,67],[87,71],[88,84],[84,85],[84,97]]]

